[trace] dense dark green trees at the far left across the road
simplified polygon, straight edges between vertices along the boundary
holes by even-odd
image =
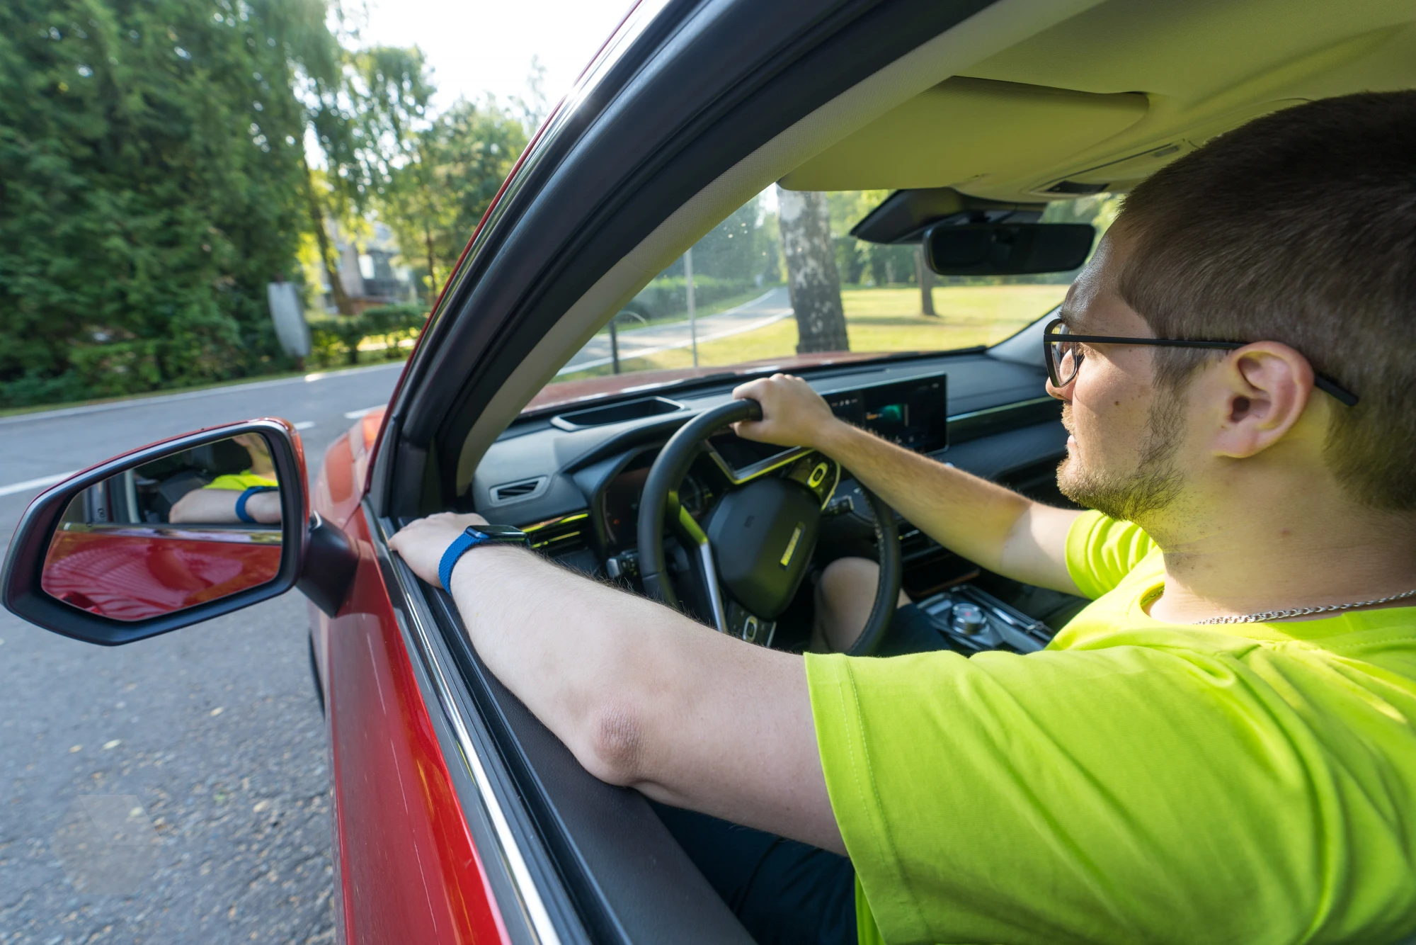
[[[0,405],[283,366],[319,0],[0,6]]]

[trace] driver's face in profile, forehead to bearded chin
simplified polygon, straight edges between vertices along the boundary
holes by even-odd
[[[1153,337],[1116,292],[1124,254],[1124,239],[1103,237],[1062,303],[1070,332]],[[1061,390],[1048,384],[1065,401],[1062,424],[1070,434],[1058,489],[1113,519],[1144,520],[1170,506],[1184,482],[1175,463],[1187,426],[1184,397],[1154,390],[1154,349],[1080,344],[1080,353],[1075,380]]]

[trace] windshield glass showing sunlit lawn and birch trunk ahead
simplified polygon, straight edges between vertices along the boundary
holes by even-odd
[[[851,237],[889,193],[762,191],[654,276],[528,409],[726,371],[995,344],[1061,303],[1076,276],[939,276],[919,244]],[[1104,231],[1117,208],[1096,194],[1052,203],[1042,221]]]

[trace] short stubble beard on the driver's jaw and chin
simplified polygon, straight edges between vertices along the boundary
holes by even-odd
[[[1068,455],[1058,466],[1058,490],[1103,516],[1144,526],[1144,519],[1172,504],[1180,496],[1184,476],[1175,466],[1175,453],[1184,435],[1182,400],[1157,391],[1146,418],[1136,466],[1126,472],[1087,469],[1078,456]],[[1062,424],[1072,429],[1072,405],[1062,405]]]

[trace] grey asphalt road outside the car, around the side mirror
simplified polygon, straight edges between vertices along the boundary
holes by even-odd
[[[42,489],[25,483],[227,421],[300,424],[313,476],[399,367],[0,419],[0,533]],[[0,612],[0,945],[333,941],[306,606],[290,592],[116,649]],[[113,809],[156,842],[102,846]]]

